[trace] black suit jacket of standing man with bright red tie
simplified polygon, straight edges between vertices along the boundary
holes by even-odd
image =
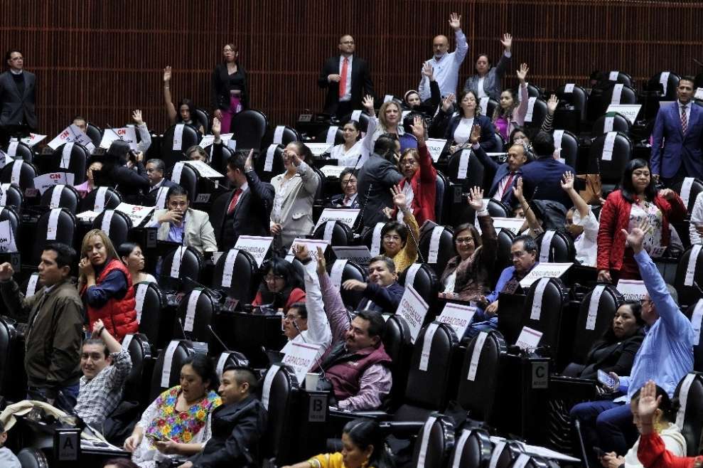
[[[337,112],[337,106],[339,104],[339,83],[328,81],[327,77],[328,75],[339,74],[340,57],[341,55],[336,55],[335,57],[328,58],[317,79],[318,86],[327,89],[327,96],[325,97],[325,112],[327,114]],[[354,109],[361,109],[362,98],[365,95],[375,95],[369,66],[366,60],[356,55],[353,55],[351,80],[351,104]]]

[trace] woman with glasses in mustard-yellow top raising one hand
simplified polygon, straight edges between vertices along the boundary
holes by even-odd
[[[400,275],[417,260],[420,230],[403,189],[395,186],[390,191],[393,194],[393,204],[399,211],[398,218],[402,215],[405,224],[398,221],[385,223],[381,228],[381,248],[382,253],[393,259],[395,271]]]

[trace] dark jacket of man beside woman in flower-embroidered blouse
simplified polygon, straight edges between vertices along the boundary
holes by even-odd
[[[258,467],[259,444],[266,430],[264,405],[249,395],[245,400],[215,408],[213,437],[203,452],[190,457],[195,467]]]

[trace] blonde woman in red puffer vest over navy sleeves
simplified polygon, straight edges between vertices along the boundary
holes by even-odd
[[[102,230],[90,230],[83,238],[78,270],[78,292],[87,304],[90,329],[101,319],[120,343],[125,335],[139,331],[132,275]]]

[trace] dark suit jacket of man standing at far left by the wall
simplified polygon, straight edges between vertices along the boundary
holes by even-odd
[[[35,88],[36,75],[23,71],[24,93],[19,95],[19,90],[12,74],[9,71],[0,74],[0,127],[21,125],[25,122],[30,128],[36,129],[37,117],[35,113]]]

